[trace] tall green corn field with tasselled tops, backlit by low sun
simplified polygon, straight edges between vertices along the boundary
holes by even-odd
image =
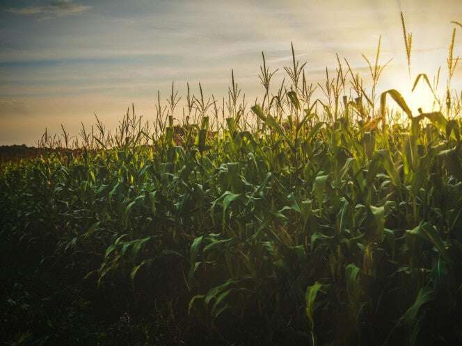
[[[292,46],[250,108],[232,73],[221,103],[187,85],[182,117],[172,84],[154,121],[45,132],[0,170],[6,343],[460,344],[455,35],[443,97],[415,76],[431,113],[377,93],[379,41],[369,87],[338,57],[310,85]]]

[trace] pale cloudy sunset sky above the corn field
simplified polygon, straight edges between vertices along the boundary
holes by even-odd
[[[317,83],[335,70],[335,53],[366,76],[361,54],[373,58],[381,35],[381,61],[392,58],[381,86],[399,89],[408,81],[400,11],[413,73],[445,74],[461,0],[0,0],[0,145],[33,145],[61,124],[75,134],[95,114],[113,128],[132,103],[154,119],[157,90],[165,103],[173,81],[180,94],[200,82],[221,98],[231,69],[255,99],[261,52],[280,80],[291,42]]]

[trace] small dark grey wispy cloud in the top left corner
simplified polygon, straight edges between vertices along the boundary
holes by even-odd
[[[45,6],[26,6],[22,8],[7,8],[6,12],[13,15],[38,15],[39,20],[46,20],[55,17],[79,15],[93,8],[93,6],[79,5],[73,0],[49,1]]]

